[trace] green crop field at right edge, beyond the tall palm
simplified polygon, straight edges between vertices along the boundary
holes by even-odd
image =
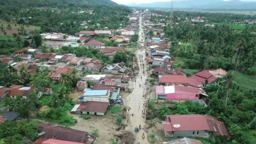
[[[231,71],[234,81],[244,90],[256,90],[256,76],[249,76],[240,72]]]

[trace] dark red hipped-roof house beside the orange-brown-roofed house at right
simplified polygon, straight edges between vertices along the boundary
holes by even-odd
[[[197,80],[198,82],[201,82],[203,85],[206,84],[206,81],[208,84],[210,84],[218,79],[213,74],[211,74],[208,70],[203,70],[201,72],[198,72],[193,76],[190,76],[190,78]]]

